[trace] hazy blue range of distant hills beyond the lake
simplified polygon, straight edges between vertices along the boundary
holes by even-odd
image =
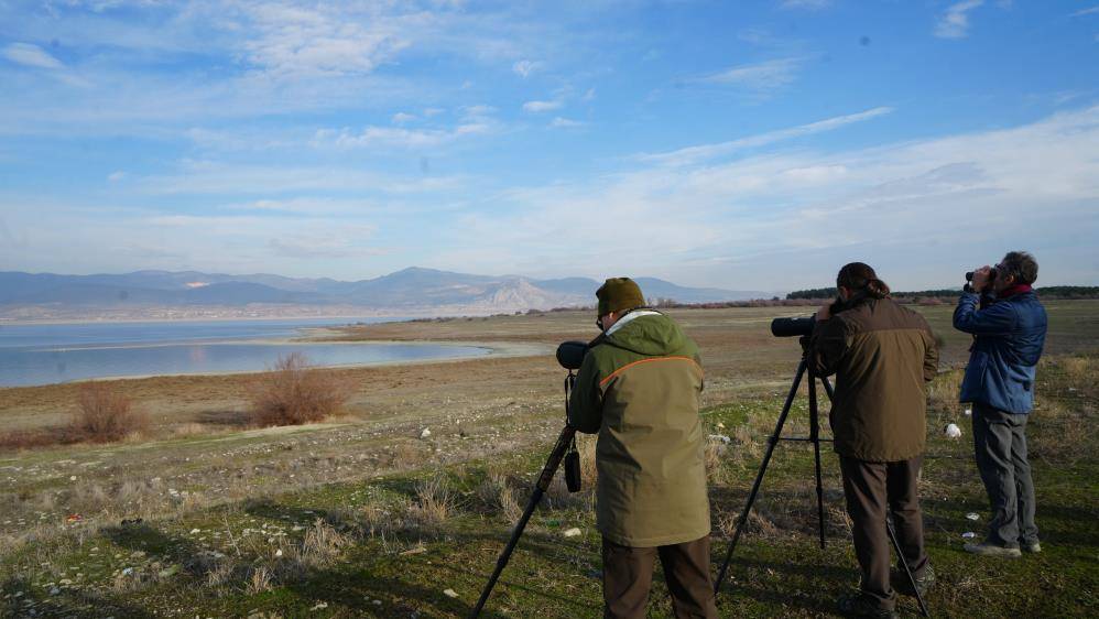
[[[686,287],[654,278],[636,281],[654,302],[706,303],[771,295]],[[339,307],[344,312],[490,314],[592,305],[597,287],[599,282],[588,278],[535,280],[417,267],[357,282],[197,271],[95,275],[0,272],[0,316],[95,316],[105,312],[141,315],[153,307],[258,306],[272,315],[291,315],[295,307],[309,307],[314,314],[323,313],[325,307]]]

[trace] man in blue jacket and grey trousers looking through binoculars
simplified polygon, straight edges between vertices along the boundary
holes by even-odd
[[[977,468],[992,504],[988,536],[965,546],[978,555],[1042,551],[1026,460],[1026,419],[1046,333],[1045,307],[1031,289],[1037,274],[1033,256],[1009,252],[994,270],[973,272],[972,292],[962,294],[954,311],[954,328],[973,335],[959,399],[972,403]]]

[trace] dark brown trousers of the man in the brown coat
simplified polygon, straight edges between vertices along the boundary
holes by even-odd
[[[896,591],[889,584],[891,544],[885,531],[886,504],[913,576],[922,577],[927,567],[924,523],[916,492],[916,475],[922,463],[923,456],[895,463],[839,458],[847,513],[852,521],[855,556],[862,571],[862,593],[877,599],[880,608],[896,606]]]

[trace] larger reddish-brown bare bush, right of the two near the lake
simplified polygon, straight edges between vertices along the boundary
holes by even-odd
[[[304,355],[292,352],[251,385],[252,422],[263,427],[318,422],[338,413],[349,395],[335,372],[312,368]]]

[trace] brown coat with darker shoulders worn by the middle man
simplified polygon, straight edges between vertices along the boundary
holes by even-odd
[[[808,361],[836,374],[836,453],[868,461],[920,455],[927,436],[927,382],[938,348],[927,322],[890,298],[869,300],[817,323]]]

